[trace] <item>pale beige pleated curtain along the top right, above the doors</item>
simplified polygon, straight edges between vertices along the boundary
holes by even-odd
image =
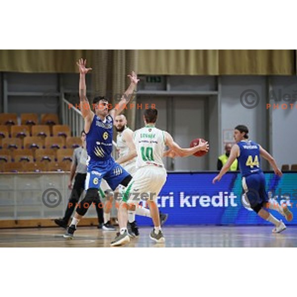
[[[139,50],[139,73],[158,75],[295,75],[295,50]]]

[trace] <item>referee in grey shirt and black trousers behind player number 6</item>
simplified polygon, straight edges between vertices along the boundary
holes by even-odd
[[[81,194],[84,192],[85,189],[85,181],[87,176],[87,165],[86,165],[86,158],[87,158],[87,151],[86,151],[86,134],[84,131],[81,133],[81,140],[82,146],[79,148],[75,148],[72,157],[72,164],[70,169],[70,177],[68,188],[72,189],[69,201],[67,203],[67,207],[65,210],[64,217],[61,219],[55,219],[54,222],[63,228],[67,228],[69,219],[77,206],[79,198]],[[74,184],[72,187],[72,181],[74,179]],[[103,205],[98,197],[94,200],[96,205],[96,211],[98,215],[99,225],[98,228],[101,229],[103,225]]]

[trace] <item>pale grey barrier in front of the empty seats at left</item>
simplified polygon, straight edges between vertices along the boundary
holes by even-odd
[[[71,192],[68,180],[64,172],[0,174],[0,228],[2,220],[63,217]],[[113,207],[111,217],[116,216]],[[85,217],[97,217],[93,205]]]

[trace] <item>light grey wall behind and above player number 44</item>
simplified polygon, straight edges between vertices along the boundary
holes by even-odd
[[[267,109],[266,103],[277,103],[269,98],[269,80],[272,90],[278,95],[296,94],[297,77],[295,76],[224,76],[221,78],[221,127],[233,129],[237,124],[245,124],[249,128],[250,139],[267,148],[277,160],[277,164],[297,163],[297,102],[281,101],[282,103],[294,103],[294,109]],[[240,96],[247,89],[255,90],[259,94],[260,102],[252,109],[242,106]],[[295,90],[295,92],[294,92]],[[249,98],[251,99],[251,98]],[[289,105],[288,105],[289,106]],[[291,106],[290,106],[291,108]],[[270,139],[269,139],[270,138]],[[221,147],[223,151],[223,145]],[[264,169],[268,169],[266,161]]]

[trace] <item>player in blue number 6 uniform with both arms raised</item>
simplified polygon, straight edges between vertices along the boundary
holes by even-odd
[[[85,185],[87,193],[85,198],[77,206],[72,222],[64,235],[65,238],[69,239],[73,238],[78,222],[86,214],[94,199],[98,197],[98,189],[102,178],[106,180],[112,190],[115,190],[120,184],[127,187],[132,179],[131,175],[118,165],[111,156],[113,121],[115,116],[120,114],[128,104],[139,79],[137,79],[137,75],[134,72],[128,75],[130,78],[128,89],[117,104],[117,107],[109,112],[107,99],[104,97],[94,98],[93,112],[87,99],[86,87],[86,74],[92,68],[87,68],[86,63],[86,60],[80,59],[77,65],[80,72],[80,107],[85,120],[84,131],[87,136],[88,167]]]

